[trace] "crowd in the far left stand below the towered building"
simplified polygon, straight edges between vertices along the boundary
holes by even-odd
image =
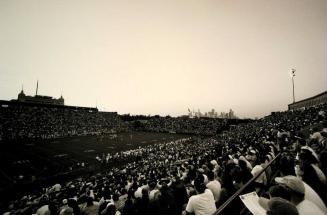
[[[95,109],[0,106],[0,140],[96,135],[121,128],[116,113]]]

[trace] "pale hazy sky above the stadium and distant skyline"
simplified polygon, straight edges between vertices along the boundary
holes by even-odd
[[[263,117],[327,90],[326,0],[0,0],[0,100]]]

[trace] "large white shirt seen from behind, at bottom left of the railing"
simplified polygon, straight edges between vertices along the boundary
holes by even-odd
[[[195,215],[208,215],[216,211],[215,199],[212,192],[206,189],[204,193],[191,196],[186,211]]]

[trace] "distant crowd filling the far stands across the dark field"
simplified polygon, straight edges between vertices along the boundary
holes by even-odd
[[[53,139],[131,130],[215,135],[228,121],[218,118],[159,116],[132,121],[125,118],[124,115],[99,112],[94,108],[0,105],[0,140]]]

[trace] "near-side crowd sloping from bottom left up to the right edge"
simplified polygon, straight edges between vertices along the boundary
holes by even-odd
[[[117,159],[137,159],[36,190],[11,201],[4,214],[213,214],[254,176],[244,193],[256,191],[270,213],[326,214],[326,111],[320,105],[274,113],[219,136],[122,152]],[[267,167],[277,154],[278,168]],[[242,208],[237,198],[223,214]]]

